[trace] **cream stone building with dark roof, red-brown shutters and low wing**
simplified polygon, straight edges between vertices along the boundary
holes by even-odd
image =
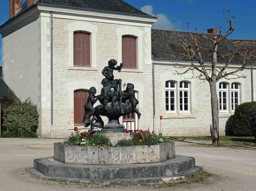
[[[120,123],[129,129],[153,129],[154,66],[156,130],[162,115],[161,128],[166,135],[210,133],[209,85],[191,78],[192,74],[174,74],[176,69],[181,71],[173,66],[174,62],[187,63],[173,57],[179,49],[174,31],[151,29],[157,17],[121,0],[27,0],[21,5],[20,0],[10,0],[9,20],[0,26],[2,75],[17,97],[31,97],[38,105],[39,135],[51,136],[51,102],[54,137],[66,137],[74,126],[84,128],[81,118],[88,89],[94,86],[96,95],[100,94],[101,72],[112,58],[118,65],[124,64],[120,73],[114,71],[115,78],[134,84],[140,102],[137,107],[142,113],[140,120],[131,114],[120,118]],[[225,51],[228,47],[234,45],[225,41],[219,48]],[[209,55],[204,59],[209,60]],[[218,64],[223,65],[223,61],[220,59]],[[239,63],[241,60],[236,58],[228,70],[239,67]],[[221,133],[234,107],[256,98],[256,93],[254,97],[251,94],[252,86],[256,90],[251,71],[241,73],[247,78],[222,80],[221,89],[217,89],[224,102],[220,110]]]

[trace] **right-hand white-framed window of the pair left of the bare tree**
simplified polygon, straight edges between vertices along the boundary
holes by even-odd
[[[180,111],[189,111],[189,84],[180,82]]]

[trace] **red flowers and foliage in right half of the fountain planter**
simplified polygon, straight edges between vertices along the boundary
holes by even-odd
[[[159,131],[159,134],[150,133],[149,131],[143,130],[134,130],[130,133],[132,139],[126,140],[125,138],[119,140],[115,146],[131,146],[131,145],[155,145],[162,142],[165,142],[163,139],[162,132]]]

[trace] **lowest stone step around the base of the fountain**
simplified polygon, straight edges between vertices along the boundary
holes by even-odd
[[[170,183],[177,181],[185,181],[189,179],[191,176],[199,174],[203,171],[203,167],[195,166],[193,169],[190,169],[184,172],[181,175],[173,175],[173,176],[162,176],[162,177],[149,177],[149,178],[135,178],[135,179],[120,179],[120,180],[93,180],[93,179],[83,179],[83,178],[59,178],[59,177],[47,177],[34,168],[28,169],[38,178],[45,179],[59,179],[64,181],[75,181],[75,182],[85,182],[85,183],[96,183],[96,184],[104,184],[104,185],[126,185],[126,184],[152,184],[152,183]]]

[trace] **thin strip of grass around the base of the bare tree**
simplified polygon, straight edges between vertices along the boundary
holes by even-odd
[[[210,136],[173,136],[170,139],[178,140],[207,140],[211,141]],[[222,146],[253,146],[256,147],[256,139],[254,137],[235,137],[220,136],[220,145]]]

